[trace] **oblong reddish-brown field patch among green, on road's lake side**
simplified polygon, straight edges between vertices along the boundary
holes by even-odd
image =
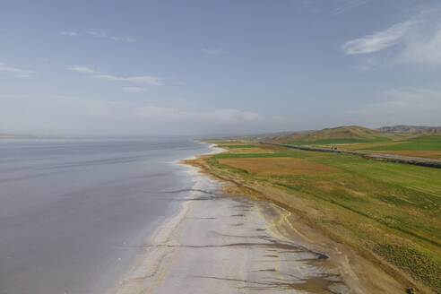
[[[281,175],[301,175],[301,174],[320,174],[336,172],[336,169],[311,160],[297,158],[232,158],[219,159],[220,164],[229,165],[237,169],[245,169],[249,173],[259,176],[281,176]]]

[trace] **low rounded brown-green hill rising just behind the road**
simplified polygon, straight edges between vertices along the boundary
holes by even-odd
[[[297,132],[290,134],[272,135],[265,138],[267,141],[279,143],[315,143],[317,141],[341,141],[345,143],[389,140],[389,134],[383,134],[377,130],[372,130],[359,125],[346,125],[333,128],[324,128],[320,131]]]

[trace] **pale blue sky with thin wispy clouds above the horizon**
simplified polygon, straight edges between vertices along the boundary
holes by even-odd
[[[439,0],[0,2],[0,134],[441,125]]]

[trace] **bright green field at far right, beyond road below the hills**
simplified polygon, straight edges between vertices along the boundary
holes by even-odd
[[[421,136],[393,145],[371,147],[372,151],[441,151],[441,135]]]

